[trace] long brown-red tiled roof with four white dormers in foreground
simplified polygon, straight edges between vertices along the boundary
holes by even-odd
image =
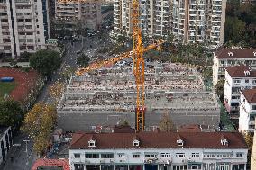
[[[228,146],[221,145],[221,137],[228,140]],[[75,133],[70,149],[89,148],[88,140],[92,133]],[[95,148],[134,148],[135,133],[95,133]],[[179,148],[178,135],[184,141],[184,148],[247,148],[241,133],[238,132],[139,132],[140,148]]]

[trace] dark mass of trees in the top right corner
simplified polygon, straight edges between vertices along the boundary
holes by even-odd
[[[256,47],[256,5],[228,0],[224,43],[226,46]]]

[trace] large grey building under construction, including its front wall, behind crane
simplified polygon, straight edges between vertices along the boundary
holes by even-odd
[[[220,109],[215,94],[206,92],[195,68],[175,63],[145,65],[145,130],[159,126],[169,113],[176,127],[199,124],[216,130]],[[136,85],[127,63],[72,76],[58,105],[58,125],[66,131],[111,130],[123,120],[135,126]]]

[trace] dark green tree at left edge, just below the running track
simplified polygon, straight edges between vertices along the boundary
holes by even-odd
[[[19,102],[11,98],[0,99],[0,125],[12,126],[18,130],[23,121],[24,112]]]

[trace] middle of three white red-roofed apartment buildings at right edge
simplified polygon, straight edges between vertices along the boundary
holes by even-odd
[[[233,119],[239,118],[240,91],[254,87],[256,87],[256,70],[244,65],[226,68],[224,106]]]

